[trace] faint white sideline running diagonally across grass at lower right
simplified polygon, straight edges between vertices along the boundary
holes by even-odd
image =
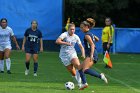
[[[95,69],[97,69],[97,68],[95,67]],[[102,71],[99,70],[99,69],[97,69],[97,70],[100,71],[100,72],[102,72]],[[131,89],[131,90],[133,90],[133,91],[135,91],[135,92],[140,93],[140,89],[136,89],[136,88],[134,88],[134,87],[131,87],[130,85],[124,83],[123,81],[118,80],[118,79],[115,79],[115,78],[113,78],[113,77],[111,77],[111,76],[109,76],[109,75],[107,75],[107,74],[105,74],[105,75],[106,75],[107,77],[109,77],[110,79],[112,79],[112,80],[114,80],[114,81],[116,81],[116,82],[118,82],[118,83],[120,83],[120,84],[122,84],[122,85],[128,87],[129,89]]]

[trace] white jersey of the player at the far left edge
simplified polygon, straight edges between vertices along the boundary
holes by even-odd
[[[0,46],[7,46],[11,45],[11,36],[13,36],[13,30],[10,27],[6,27],[5,29],[2,29],[0,26]]]

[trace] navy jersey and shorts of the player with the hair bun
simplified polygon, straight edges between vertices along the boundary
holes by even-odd
[[[91,39],[92,39],[92,42],[95,44],[94,34],[92,34],[90,31],[88,31],[88,32],[85,33],[85,36],[86,35],[89,35],[91,37]],[[90,54],[91,54],[91,46],[90,46],[89,42],[85,39],[85,37],[84,37],[84,45],[85,45],[85,54],[86,54],[87,57],[90,57]],[[94,61],[97,62],[97,60],[98,60],[98,53],[97,53],[96,48],[94,50],[93,57],[94,57]]]

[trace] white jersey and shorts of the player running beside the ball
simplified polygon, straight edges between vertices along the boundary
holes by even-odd
[[[74,34],[73,36],[70,36],[68,32],[62,33],[59,36],[59,38],[61,38],[65,42],[69,42],[72,44],[71,46],[61,45],[60,54],[59,54],[59,57],[61,58],[62,63],[65,66],[68,66],[71,64],[71,60],[73,58],[78,58],[74,46],[76,43],[81,44],[81,41],[80,41],[80,38],[76,34]]]

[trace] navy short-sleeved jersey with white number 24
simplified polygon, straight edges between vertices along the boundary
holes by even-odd
[[[39,40],[40,40],[40,38],[42,38],[41,31],[38,29],[36,31],[33,31],[31,28],[28,28],[25,31],[24,36],[27,38],[25,49],[38,51],[39,50]]]

